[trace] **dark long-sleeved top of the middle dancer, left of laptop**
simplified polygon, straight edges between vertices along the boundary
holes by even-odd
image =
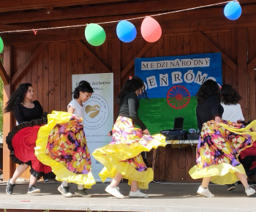
[[[139,108],[139,101],[135,92],[129,92],[126,94],[121,103],[119,105],[118,116],[125,116],[128,118],[132,118],[132,121],[135,122],[140,129],[145,130],[147,129],[143,121],[140,120],[138,116],[138,108]]]

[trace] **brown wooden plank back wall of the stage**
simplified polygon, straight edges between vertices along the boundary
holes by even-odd
[[[255,38],[255,29],[163,34],[142,57],[222,52],[223,83],[229,83],[241,92],[244,116],[246,121],[252,121],[256,118]],[[241,39],[244,39],[244,42],[240,42]],[[134,75],[134,67],[132,67],[120,79],[121,70],[134,61],[135,56],[145,45],[146,42],[141,37],[131,43],[122,43],[114,37],[106,40],[99,47],[93,47],[78,40],[49,42],[48,48],[32,62],[26,75],[15,83],[15,88],[20,83],[31,82],[35,91],[34,99],[41,102],[45,111],[48,113],[52,110],[66,111],[67,103],[72,99],[71,75],[101,73],[108,70],[116,73],[120,69],[119,76],[115,75],[115,80],[120,80],[116,87],[118,88],[124,84],[129,75]],[[37,46],[38,44],[13,46],[14,73],[31,56]],[[248,54],[246,48],[248,48]],[[248,58],[244,59],[247,55]],[[248,64],[251,62],[249,70],[246,67],[246,60]],[[117,113],[116,110],[117,106],[114,114]],[[195,146],[173,148],[167,145],[166,148],[159,148],[157,153],[156,180],[191,180],[188,171],[195,165]],[[153,160],[151,152],[148,153],[147,158],[150,166]],[[23,177],[29,178],[29,173]]]

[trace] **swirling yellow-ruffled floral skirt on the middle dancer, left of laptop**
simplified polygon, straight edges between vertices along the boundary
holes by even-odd
[[[134,126],[132,119],[124,116],[118,116],[112,133],[112,141],[92,153],[95,159],[105,165],[99,177],[105,181],[119,172],[128,179],[129,185],[132,181],[138,181],[140,189],[148,189],[148,183],[153,180],[154,173],[151,168],[146,167],[140,153],[165,146],[165,137],[143,135],[142,130]]]

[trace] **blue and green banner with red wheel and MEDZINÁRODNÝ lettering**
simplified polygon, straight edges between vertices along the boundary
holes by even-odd
[[[151,134],[173,129],[174,118],[180,116],[184,129],[195,132],[195,94],[208,79],[222,85],[222,55],[135,58],[135,75],[144,81],[150,99],[140,100],[139,115]]]

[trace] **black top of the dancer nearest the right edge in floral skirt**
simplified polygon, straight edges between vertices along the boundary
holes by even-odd
[[[198,129],[201,131],[203,123],[214,119],[214,116],[222,117],[223,112],[224,109],[217,96],[210,96],[206,102],[199,103],[196,109]]]

